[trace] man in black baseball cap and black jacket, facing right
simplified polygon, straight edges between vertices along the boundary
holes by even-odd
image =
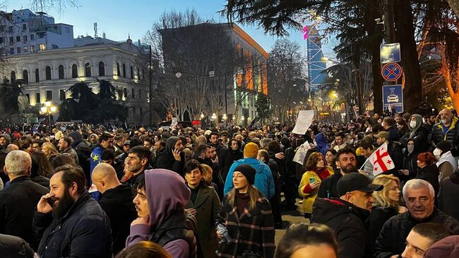
[[[325,224],[335,231],[340,246],[338,258],[366,257],[364,223],[374,203],[373,192],[382,189],[381,184],[371,184],[365,175],[350,173],[338,181],[340,199],[314,201],[311,223]]]

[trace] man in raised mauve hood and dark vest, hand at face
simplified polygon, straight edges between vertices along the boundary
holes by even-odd
[[[184,179],[171,170],[155,169],[143,172],[138,182],[133,200],[138,218],[131,223],[126,247],[149,240],[174,258],[196,257],[196,219],[184,210],[191,197]]]

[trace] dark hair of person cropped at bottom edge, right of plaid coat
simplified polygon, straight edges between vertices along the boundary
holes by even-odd
[[[317,223],[294,223],[280,239],[275,258],[290,258],[299,248],[321,244],[330,246],[335,253],[338,252],[335,234],[328,226]]]

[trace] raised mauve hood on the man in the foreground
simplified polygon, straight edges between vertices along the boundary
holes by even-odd
[[[172,213],[183,210],[191,197],[185,180],[164,169],[145,170],[145,192],[152,228],[161,225]]]

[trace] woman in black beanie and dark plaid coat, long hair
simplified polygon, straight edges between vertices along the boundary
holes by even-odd
[[[251,144],[254,143],[247,143],[246,148]],[[230,172],[234,187],[218,214],[217,223],[225,225],[232,240],[220,245],[217,257],[273,257],[274,219],[268,199],[254,187],[256,170],[251,165],[240,164]],[[223,238],[222,233],[217,231],[217,234]]]

